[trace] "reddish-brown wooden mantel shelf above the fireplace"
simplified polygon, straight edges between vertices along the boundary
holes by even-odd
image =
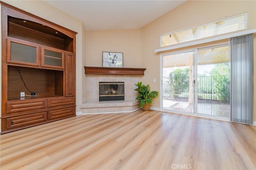
[[[145,70],[146,68],[84,66],[84,74],[144,75]]]

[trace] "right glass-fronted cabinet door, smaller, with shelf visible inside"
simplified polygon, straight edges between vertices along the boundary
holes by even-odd
[[[64,56],[62,50],[42,47],[42,67],[64,68]]]

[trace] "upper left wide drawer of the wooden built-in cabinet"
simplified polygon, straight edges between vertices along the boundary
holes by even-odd
[[[6,112],[21,112],[26,110],[42,109],[47,107],[47,100],[33,100],[20,102],[7,102]]]

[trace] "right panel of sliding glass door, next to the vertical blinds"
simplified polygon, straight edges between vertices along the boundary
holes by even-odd
[[[198,50],[198,114],[230,118],[230,48]]]

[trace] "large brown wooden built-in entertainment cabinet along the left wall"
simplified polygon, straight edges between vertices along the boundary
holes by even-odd
[[[1,134],[76,116],[77,33],[0,3]]]

